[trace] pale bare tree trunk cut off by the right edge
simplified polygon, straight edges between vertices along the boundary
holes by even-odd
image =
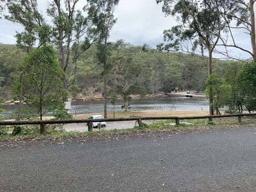
[[[255,12],[253,0],[250,0],[250,18],[251,18],[251,47],[253,52],[253,62],[256,62],[256,42],[255,42]]]

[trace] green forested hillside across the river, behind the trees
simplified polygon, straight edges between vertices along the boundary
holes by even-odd
[[[147,93],[171,92],[175,89],[204,91],[208,76],[208,59],[189,54],[158,52],[149,47],[138,47],[126,44],[122,50],[123,55],[132,59],[130,63],[138,65],[134,84],[145,87]],[[111,55],[115,53],[112,52]],[[120,54],[120,53],[119,53]],[[12,96],[12,85],[19,72],[16,72],[17,63],[21,62],[27,54],[16,45],[0,44],[0,92],[1,98]],[[114,56],[112,59],[115,59]],[[110,59],[111,61],[111,59]],[[96,47],[92,46],[78,58],[76,75],[74,72],[74,59],[70,59],[69,78],[78,85],[79,92],[85,95],[100,93],[102,89],[101,65],[96,59]],[[223,76],[228,70],[227,61],[215,59],[213,70]],[[123,65],[126,65],[123,63]],[[112,70],[115,70],[114,68]],[[129,69],[130,70],[130,69]],[[138,70],[140,70],[138,72]],[[135,71],[134,71],[135,72]],[[16,75],[15,75],[16,74]],[[109,87],[114,86],[114,72],[109,71]],[[128,77],[129,78],[129,77]],[[118,84],[118,82],[115,82]]]

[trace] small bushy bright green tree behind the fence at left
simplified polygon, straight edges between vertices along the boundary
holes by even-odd
[[[22,86],[23,97],[36,107],[40,118],[61,105],[63,72],[52,47],[32,51],[19,65],[19,70],[23,71],[23,81],[17,80],[14,91],[18,94]]]

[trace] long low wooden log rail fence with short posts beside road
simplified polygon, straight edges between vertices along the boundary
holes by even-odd
[[[180,120],[198,120],[209,119],[209,122],[213,118],[229,118],[237,117],[239,123],[242,122],[242,116],[256,116],[256,113],[250,114],[224,114],[224,115],[212,115],[212,116],[158,116],[158,117],[132,117],[132,118],[109,118],[109,119],[97,119],[97,120],[43,120],[43,121],[0,121],[1,125],[40,125],[40,132],[45,133],[45,125],[52,124],[70,124],[70,123],[88,123],[88,131],[92,131],[92,122],[124,122],[124,121],[138,121],[138,125],[142,126],[143,120],[175,120],[176,124],[180,123]]]

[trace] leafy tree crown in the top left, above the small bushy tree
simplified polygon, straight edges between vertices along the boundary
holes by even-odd
[[[39,13],[36,0],[10,0],[6,6],[8,14],[5,19],[24,27],[23,32],[16,32],[17,47],[29,53],[37,41],[37,47],[50,41],[50,26]]]

